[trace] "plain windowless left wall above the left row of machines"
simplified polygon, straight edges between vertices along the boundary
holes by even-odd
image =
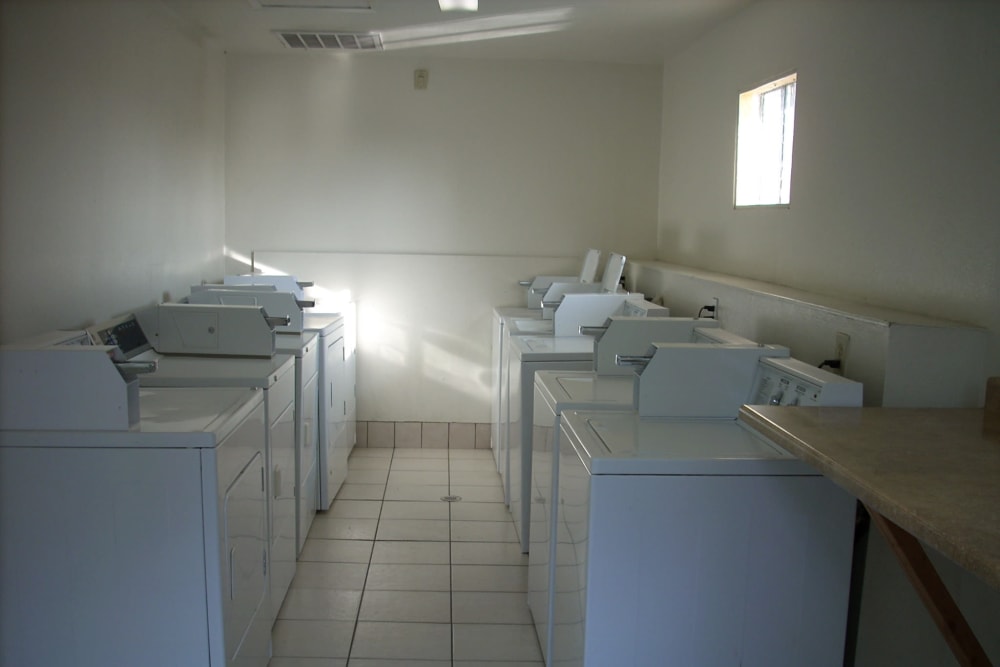
[[[220,275],[221,55],[159,3],[0,8],[0,341]]]

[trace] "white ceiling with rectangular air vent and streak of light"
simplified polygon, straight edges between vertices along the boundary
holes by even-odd
[[[660,64],[753,0],[479,0],[477,12],[442,12],[437,0],[162,1],[229,53],[326,57],[276,33],[378,32],[386,53]]]

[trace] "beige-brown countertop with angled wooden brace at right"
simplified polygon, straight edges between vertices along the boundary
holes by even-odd
[[[1000,432],[984,411],[743,406],[739,419],[1000,589]]]

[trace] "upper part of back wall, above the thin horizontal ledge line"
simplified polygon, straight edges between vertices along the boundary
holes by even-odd
[[[658,67],[301,55],[228,58],[234,250],[655,243]],[[427,90],[413,89],[418,67]]]

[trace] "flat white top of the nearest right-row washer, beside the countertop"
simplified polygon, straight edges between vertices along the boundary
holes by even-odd
[[[563,413],[593,475],[818,475],[735,419],[640,419],[635,412]]]

